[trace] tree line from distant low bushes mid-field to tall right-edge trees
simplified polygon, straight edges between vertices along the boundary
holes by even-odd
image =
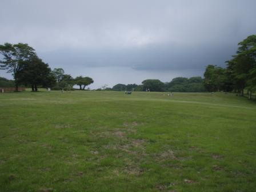
[[[117,84],[109,90],[114,91],[173,91],[173,92],[215,92],[233,91],[251,99],[256,91],[256,35],[250,35],[238,43],[238,50],[226,67],[208,65],[204,78],[201,77],[177,77],[170,82],[163,83],[159,79],[146,79],[142,85]]]

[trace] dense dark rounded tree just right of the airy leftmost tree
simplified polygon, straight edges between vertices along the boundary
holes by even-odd
[[[48,64],[37,56],[22,62],[22,70],[17,74],[18,82],[30,85],[32,91],[37,91],[38,86],[50,87],[56,82]]]

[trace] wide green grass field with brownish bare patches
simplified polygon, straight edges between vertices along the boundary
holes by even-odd
[[[0,94],[0,191],[255,191],[256,103],[163,94]]]

